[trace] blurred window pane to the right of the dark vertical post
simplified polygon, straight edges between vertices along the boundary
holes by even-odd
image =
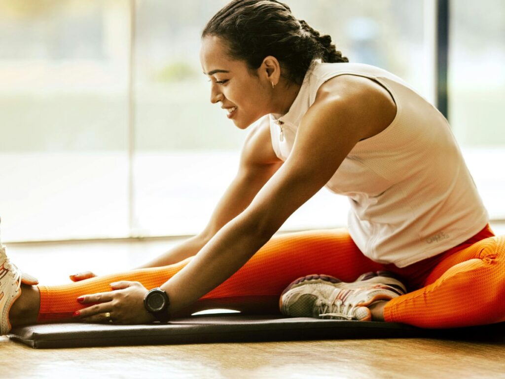
[[[449,121],[492,219],[505,219],[505,2],[450,2]]]

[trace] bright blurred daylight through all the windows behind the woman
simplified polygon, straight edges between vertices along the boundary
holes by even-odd
[[[352,62],[434,96],[433,0],[285,0]],[[4,242],[198,233],[247,131],[209,102],[199,35],[224,0],[0,0]],[[449,121],[505,218],[505,2],[450,2]],[[284,230],[345,225],[323,189]]]

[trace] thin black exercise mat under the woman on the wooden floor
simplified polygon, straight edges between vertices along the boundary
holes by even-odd
[[[395,322],[281,318],[279,315],[201,315],[169,324],[42,324],[14,328],[9,338],[34,348],[194,344],[374,338],[504,336],[505,323],[458,329],[422,329]]]

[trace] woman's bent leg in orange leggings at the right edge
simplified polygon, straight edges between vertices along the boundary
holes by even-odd
[[[430,328],[505,321],[505,236],[446,256],[425,286],[389,301],[385,321]]]

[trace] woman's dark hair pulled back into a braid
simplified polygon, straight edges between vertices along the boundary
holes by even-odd
[[[315,59],[348,62],[328,34],[321,35],[277,0],[233,0],[207,23],[201,37],[226,41],[228,55],[258,69],[265,57],[277,58],[289,82],[301,84]]]

